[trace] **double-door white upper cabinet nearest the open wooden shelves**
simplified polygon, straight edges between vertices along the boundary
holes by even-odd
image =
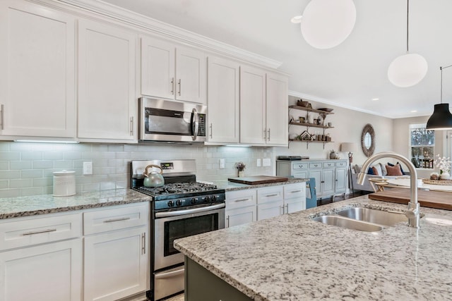
[[[288,78],[240,67],[240,142],[287,146]]]

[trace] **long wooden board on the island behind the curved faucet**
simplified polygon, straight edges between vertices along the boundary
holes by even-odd
[[[384,191],[371,193],[369,199],[408,204],[408,202],[410,202],[410,189],[386,189]],[[417,190],[417,201],[422,207],[452,210],[452,192]]]

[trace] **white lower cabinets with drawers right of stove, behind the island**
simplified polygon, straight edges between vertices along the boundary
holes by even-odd
[[[226,227],[306,209],[306,183],[226,192]]]

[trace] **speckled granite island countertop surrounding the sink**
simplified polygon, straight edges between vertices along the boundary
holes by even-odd
[[[174,245],[253,300],[451,300],[452,211],[421,207],[420,229],[374,233],[311,220],[356,206],[407,209],[362,196]]]

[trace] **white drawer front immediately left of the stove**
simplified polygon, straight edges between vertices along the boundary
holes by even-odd
[[[121,205],[112,209],[97,209],[83,213],[85,235],[146,225],[149,220],[149,202]]]

